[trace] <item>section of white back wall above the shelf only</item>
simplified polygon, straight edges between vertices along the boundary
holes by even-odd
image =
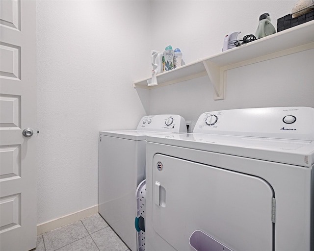
[[[227,34],[254,34],[261,14],[277,19],[297,0],[157,0],[152,1],[152,47],[179,47],[186,63],[221,52]],[[167,26],[168,25],[168,26]]]

